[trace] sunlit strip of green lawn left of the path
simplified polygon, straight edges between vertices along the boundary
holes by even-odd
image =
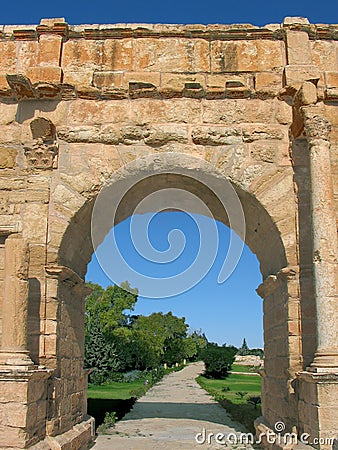
[[[129,383],[112,381],[109,384],[103,384],[101,386],[89,385],[87,397],[126,400],[133,397],[131,391],[143,387],[143,381],[132,381]]]

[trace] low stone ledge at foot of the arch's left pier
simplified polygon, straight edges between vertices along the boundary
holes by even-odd
[[[47,436],[42,442],[30,450],[87,450],[91,447],[95,436],[95,420],[86,416],[70,430],[58,436]]]

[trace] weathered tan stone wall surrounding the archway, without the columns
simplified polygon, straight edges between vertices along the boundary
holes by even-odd
[[[317,343],[302,108],[316,105],[331,122],[337,201],[337,33],[297,18],[263,28],[56,19],[2,27],[0,233],[29,243],[28,349],[54,370],[47,436],[86,420],[83,277],[93,201],[127,163],[130,177],[143,170],[137,161],[146,156],[162,171],[192,174],[206,161],[234,185],[263,277],[264,417],[271,425],[283,417],[288,429],[297,423],[292,381]],[[187,188],[183,178],[172,184]],[[124,217],[131,212],[126,204]]]

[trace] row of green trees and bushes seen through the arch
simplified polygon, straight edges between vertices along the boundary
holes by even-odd
[[[203,360],[206,375],[213,378],[222,378],[231,369],[238,349],[208,342],[201,330],[190,332],[184,317],[172,312],[133,315],[138,291],[127,281],[106,289],[94,283],[87,286],[92,292],[85,308],[85,366],[92,369],[91,383],[183,360]],[[248,350],[246,342],[240,350]]]

